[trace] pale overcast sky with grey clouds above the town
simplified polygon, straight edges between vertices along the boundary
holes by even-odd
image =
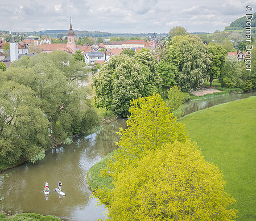
[[[1,3],[1,30],[73,29],[112,33],[222,31],[256,0],[10,0]],[[248,12],[247,12],[248,13]]]

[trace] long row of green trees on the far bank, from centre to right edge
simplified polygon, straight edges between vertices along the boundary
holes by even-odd
[[[167,37],[154,55],[147,49],[137,53],[124,50],[121,56],[113,56],[102,66],[93,78],[97,107],[112,109],[126,117],[130,100],[152,92],[162,92],[167,98],[167,91],[175,85],[183,92],[190,92],[197,90],[204,80],[209,80],[212,86],[213,80],[219,79],[223,87],[243,90],[256,87],[255,49],[248,71],[237,57],[226,56],[221,45],[204,44],[199,36],[188,35],[181,27],[171,31],[172,37]],[[180,35],[175,36],[177,33]]]

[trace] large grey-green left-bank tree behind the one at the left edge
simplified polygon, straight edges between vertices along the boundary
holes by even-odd
[[[4,73],[3,79],[32,89],[56,137],[65,139],[85,130],[82,122],[91,105],[86,100],[88,92],[80,87],[80,81],[88,75],[84,62],[77,61],[71,54],[56,51],[33,58],[24,56]]]

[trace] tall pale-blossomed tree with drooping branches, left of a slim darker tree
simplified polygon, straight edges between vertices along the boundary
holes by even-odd
[[[172,37],[161,59],[172,64],[175,81],[184,92],[197,90],[211,64],[207,45],[195,35]]]

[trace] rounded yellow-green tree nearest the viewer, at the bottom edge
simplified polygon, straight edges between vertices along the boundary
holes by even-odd
[[[234,220],[217,165],[194,143],[175,141],[146,151],[114,181],[108,216],[114,220]]]

